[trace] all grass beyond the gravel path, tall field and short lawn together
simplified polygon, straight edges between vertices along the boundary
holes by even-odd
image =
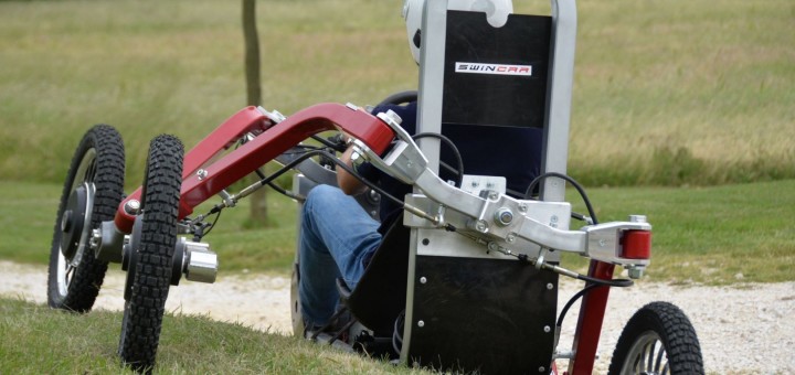
[[[416,87],[399,4],[258,4],[268,109],[373,104]],[[649,216],[649,278],[793,279],[794,6],[579,7],[569,170],[602,221]],[[121,132],[131,191],[153,136],[190,147],[243,107],[240,23],[235,1],[0,1],[0,258],[46,261],[59,185],[92,125]],[[222,271],[288,271],[295,205],[269,200],[267,228],[246,225],[245,202],[224,213],[209,238]]]

